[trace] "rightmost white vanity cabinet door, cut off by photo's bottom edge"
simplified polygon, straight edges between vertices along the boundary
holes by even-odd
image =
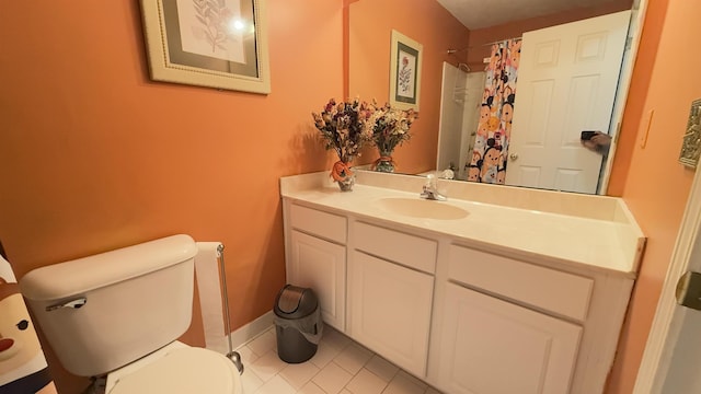
[[[563,394],[582,327],[447,285],[439,389],[455,394]]]

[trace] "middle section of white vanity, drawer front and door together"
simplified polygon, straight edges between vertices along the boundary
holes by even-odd
[[[352,229],[349,335],[425,378],[437,242],[365,222]]]

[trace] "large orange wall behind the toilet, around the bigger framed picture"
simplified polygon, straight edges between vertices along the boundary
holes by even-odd
[[[0,239],[18,277],[188,233],[226,244],[233,328],[271,310],[278,179],[332,159],[310,113],[343,93],[343,16],[342,0],[267,5],[265,96],[151,82],[137,0],[2,3]],[[61,393],[84,384],[51,368]]]

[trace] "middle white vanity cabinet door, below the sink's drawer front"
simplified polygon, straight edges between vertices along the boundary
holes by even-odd
[[[425,376],[434,278],[358,251],[348,276],[350,336]]]

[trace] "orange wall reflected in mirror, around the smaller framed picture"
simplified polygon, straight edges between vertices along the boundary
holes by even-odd
[[[423,45],[418,120],[412,125],[412,139],[393,154],[399,172],[420,173],[436,166],[443,62],[458,63],[459,58],[448,55],[448,49],[467,47],[469,31],[437,1],[366,0],[352,3],[348,32],[350,96],[367,101],[376,99],[379,104],[389,100],[392,28]],[[368,163],[378,157],[376,151],[366,150],[360,162]]]

